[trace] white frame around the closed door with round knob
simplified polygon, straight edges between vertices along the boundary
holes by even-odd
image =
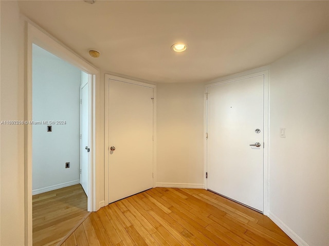
[[[137,80],[122,78],[110,74],[105,74],[105,124],[104,124],[104,131],[105,131],[105,141],[104,141],[104,195],[105,195],[105,206],[109,202],[109,131],[108,131],[108,111],[110,109],[109,107],[109,95],[108,95],[108,89],[109,89],[109,80],[115,80],[120,81],[124,83],[129,83],[133,85],[138,86],[145,86],[153,89],[153,188],[156,187],[156,85],[140,82]]]

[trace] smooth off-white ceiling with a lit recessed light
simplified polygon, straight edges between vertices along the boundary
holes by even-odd
[[[329,1],[22,1],[23,14],[96,67],[163,83],[261,67],[329,30]],[[188,49],[170,47],[185,42]],[[101,53],[99,58],[88,50]]]

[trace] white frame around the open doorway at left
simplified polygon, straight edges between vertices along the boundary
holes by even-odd
[[[90,155],[89,155],[89,197],[88,211],[97,211],[96,203],[96,180],[99,176],[96,173],[96,84],[99,83],[99,70],[90,65],[76,53],[71,51],[56,38],[48,34],[31,20],[25,18],[26,30],[26,67],[25,67],[25,88],[24,88],[24,118],[32,120],[32,44],[47,50],[48,52],[67,61],[69,64],[79,68],[92,76],[89,91],[89,112],[88,118]],[[32,245],[32,125],[24,126],[24,166],[25,166],[25,244]]]

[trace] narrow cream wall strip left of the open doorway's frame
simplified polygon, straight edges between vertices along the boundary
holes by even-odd
[[[23,27],[17,2],[1,4],[1,120],[24,120]],[[24,126],[1,125],[0,245],[24,245]]]

